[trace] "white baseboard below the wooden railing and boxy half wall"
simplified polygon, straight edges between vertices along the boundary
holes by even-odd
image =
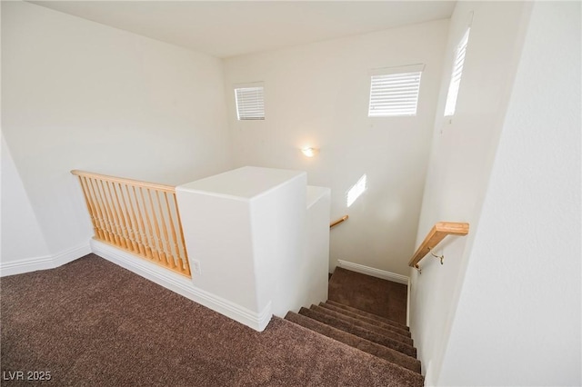
[[[271,316],[273,315],[271,303],[268,303],[260,313],[256,313],[236,303],[225,300],[216,294],[208,293],[196,287],[192,283],[192,280],[183,275],[172,273],[156,265],[156,263],[149,263],[143,258],[116,249],[109,244],[92,239],[91,250],[107,261],[115,263],[160,286],[164,286],[166,289],[178,293],[196,303],[200,303],[238,323],[245,324],[258,332],[264,331],[266,325],[271,321]]]

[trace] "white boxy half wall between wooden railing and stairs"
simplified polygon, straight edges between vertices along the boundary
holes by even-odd
[[[317,188],[307,209],[305,172],[247,166],[178,186],[194,285],[279,317],[325,301],[329,193]]]

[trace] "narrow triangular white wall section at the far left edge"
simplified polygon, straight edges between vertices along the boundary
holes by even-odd
[[[45,236],[36,222],[10,150],[2,136],[2,263],[49,255]]]

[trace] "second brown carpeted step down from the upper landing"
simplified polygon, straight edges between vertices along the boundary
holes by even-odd
[[[311,309],[301,308],[299,314],[303,314],[306,317],[317,320],[321,323],[326,323],[334,328],[340,329],[344,332],[355,334],[362,339],[369,340],[370,342],[376,342],[377,344],[384,345],[385,347],[392,348],[398,352],[405,353],[408,356],[416,358],[416,348],[405,344],[404,342],[398,342],[397,340],[386,337],[382,334],[368,331],[366,328],[347,323],[344,320],[337,319],[336,317],[330,316],[326,313],[319,313]]]

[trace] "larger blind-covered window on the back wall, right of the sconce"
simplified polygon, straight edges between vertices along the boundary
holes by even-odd
[[[370,85],[368,117],[416,115],[424,65],[376,70]]]

